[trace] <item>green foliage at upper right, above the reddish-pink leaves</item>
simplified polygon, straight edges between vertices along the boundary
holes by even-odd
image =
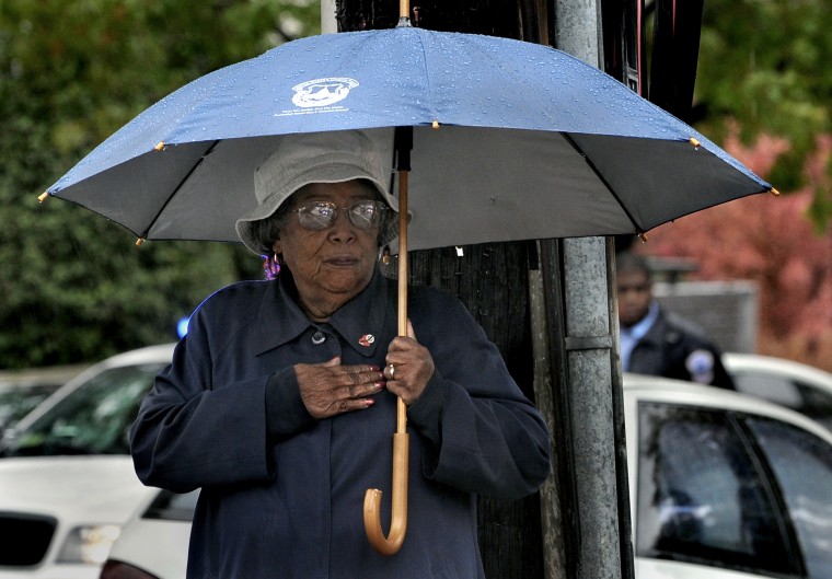
[[[705,2],[696,101],[706,107],[703,131],[717,141],[739,124],[751,144],[760,134],[786,138],[766,178],[781,190],[807,184],[805,160],[832,131],[832,11],[825,0]],[[829,216],[827,187],[812,215]]]

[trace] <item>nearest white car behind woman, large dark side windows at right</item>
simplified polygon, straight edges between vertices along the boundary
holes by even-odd
[[[765,401],[624,378],[637,579],[832,577],[832,432]],[[197,493],[137,512],[101,579],[183,579]]]

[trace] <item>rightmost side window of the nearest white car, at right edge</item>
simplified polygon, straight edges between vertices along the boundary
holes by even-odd
[[[832,447],[775,420],[750,419],[783,489],[809,577],[832,577]]]

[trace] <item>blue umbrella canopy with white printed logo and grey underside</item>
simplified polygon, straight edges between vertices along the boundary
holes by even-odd
[[[643,233],[771,190],[604,72],[520,40],[397,27],[285,44],[139,115],[46,192],[141,239],[239,241],[292,134],[413,126],[409,248]]]

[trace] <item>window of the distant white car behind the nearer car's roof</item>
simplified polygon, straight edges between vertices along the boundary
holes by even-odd
[[[733,373],[737,390],[786,406],[832,429],[832,395],[800,380],[771,373]]]

